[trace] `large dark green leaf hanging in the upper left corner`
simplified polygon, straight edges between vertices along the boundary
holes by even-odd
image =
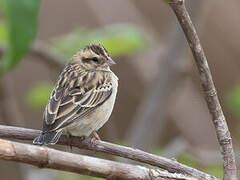
[[[29,50],[36,36],[39,0],[6,0],[8,51],[2,68],[13,68]]]

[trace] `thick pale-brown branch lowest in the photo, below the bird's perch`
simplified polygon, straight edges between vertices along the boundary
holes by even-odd
[[[123,164],[2,139],[0,139],[0,159],[107,179],[196,180],[196,178],[181,174],[172,174],[143,166]]]

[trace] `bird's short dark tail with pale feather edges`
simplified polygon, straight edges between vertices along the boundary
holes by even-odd
[[[56,144],[62,135],[62,131],[42,132],[33,140],[34,145]]]

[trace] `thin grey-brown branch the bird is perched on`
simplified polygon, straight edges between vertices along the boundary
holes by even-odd
[[[0,125],[0,137],[2,138],[14,138],[19,140],[33,140],[36,136],[40,134],[41,131],[19,128],[13,126],[3,126]],[[71,145],[78,148],[93,150],[97,152],[104,152],[107,154],[112,154],[135,161],[147,163],[153,166],[157,166],[166,169],[172,173],[187,174],[193,177],[200,177],[207,180],[217,180],[216,177],[209,174],[198,171],[194,168],[188,167],[177,161],[170,160],[164,157],[156,156],[138,149],[120,146],[117,144],[112,144],[104,141],[94,141],[91,142],[89,138],[81,141],[78,137],[71,137]],[[67,136],[62,135],[59,142],[62,145],[69,145],[69,139]]]

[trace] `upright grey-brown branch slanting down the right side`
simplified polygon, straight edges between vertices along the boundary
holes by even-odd
[[[188,44],[192,50],[195,63],[199,70],[200,81],[205,94],[212,121],[216,129],[218,142],[223,156],[224,179],[237,180],[237,168],[235,155],[232,147],[232,138],[228,130],[225,116],[223,114],[217,91],[213,83],[212,75],[208,66],[207,58],[201,46],[194,25],[185,8],[184,0],[170,0],[169,5],[174,11],[177,19],[185,33]]]

